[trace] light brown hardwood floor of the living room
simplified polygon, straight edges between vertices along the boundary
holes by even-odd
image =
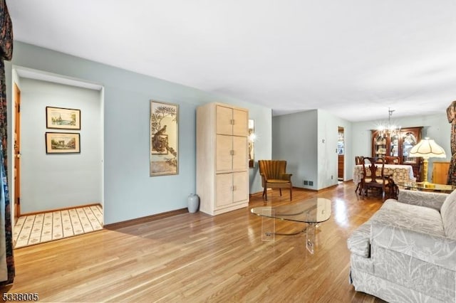
[[[382,302],[348,283],[348,235],[382,203],[358,200],[354,190],[351,181],[318,193],[294,189],[294,201],[333,202],[314,255],[304,233],[262,241],[261,217],[247,208],[182,213],[16,249],[14,285],[2,292],[37,292],[40,302]],[[249,208],[263,204],[254,195]],[[278,232],[302,228],[276,220]]]

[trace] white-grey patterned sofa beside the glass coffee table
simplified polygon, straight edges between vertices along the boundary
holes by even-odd
[[[388,302],[456,302],[456,191],[401,190],[347,243],[357,291]]]

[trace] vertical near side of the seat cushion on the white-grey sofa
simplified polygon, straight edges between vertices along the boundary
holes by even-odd
[[[379,222],[371,223],[371,245],[456,270],[456,240]],[[373,249],[375,257],[375,248]]]

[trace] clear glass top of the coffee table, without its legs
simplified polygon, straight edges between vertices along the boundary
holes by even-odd
[[[321,223],[331,217],[331,200],[309,198],[280,206],[259,206],[250,210],[258,216],[303,223]]]

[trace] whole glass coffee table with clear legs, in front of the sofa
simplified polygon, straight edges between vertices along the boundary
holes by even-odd
[[[306,248],[311,254],[314,253],[315,227],[331,217],[331,200],[326,198],[309,198],[294,203],[280,206],[259,206],[250,210],[257,216],[263,218],[273,218],[279,220],[289,220],[300,223],[307,223],[306,228]],[[299,232],[299,233],[301,233]],[[297,233],[276,233],[275,224],[267,225],[261,220],[261,237],[271,237],[271,235],[296,235]]]

